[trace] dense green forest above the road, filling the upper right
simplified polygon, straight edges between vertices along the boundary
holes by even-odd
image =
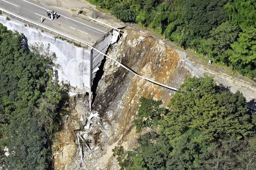
[[[89,0],[256,78],[255,0]]]

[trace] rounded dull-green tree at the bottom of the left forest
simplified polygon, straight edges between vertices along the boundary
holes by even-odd
[[[33,108],[26,108],[16,113],[8,126],[8,142],[10,155],[5,164],[12,170],[45,170],[48,168],[50,151],[45,131],[39,128],[36,120],[32,120]],[[22,113],[22,121],[18,114]]]

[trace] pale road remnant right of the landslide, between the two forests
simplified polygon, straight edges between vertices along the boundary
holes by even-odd
[[[256,83],[254,81],[241,76],[238,73],[232,73],[228,68],[218,64],[213,63],[209,66],[206,60],[195,57],[191,50],[188,51],[188,53],[180,51],[180,49],[176,49],[176,51],[179,53],[183,64],[188,67],[193,76],[214,76],[214,80],[218,84],[226,86],[233,93],[239,90],[243,93],[247,102],[250,102],[251,104],[255,102]]]

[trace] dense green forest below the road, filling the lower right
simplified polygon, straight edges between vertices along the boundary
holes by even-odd
[[[122,170],[256,169],[256,115],[240,92],[194,77],[186,78],[168,110],[160,101],[140,101],[136,129],[152,131],[131,151],[112,150]]]

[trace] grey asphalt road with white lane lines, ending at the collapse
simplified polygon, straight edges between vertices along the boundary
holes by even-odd
[[[90,45],[109,31],[89,21],[74,16],[68,16],[68,14],[62,11],[55,11],[60,17],[51,20],[48,18],[46,12],[47,10],[52,11],[53,9],[49,9],[47,6],[32,0],[0,0],[0,8],[81,39]],[[43,23],[41,23],[41,17],[44,18]]]

